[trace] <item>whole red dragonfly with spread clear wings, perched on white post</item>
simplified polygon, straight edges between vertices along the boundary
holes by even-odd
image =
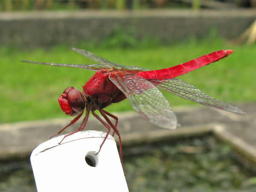
[[[177,118],[173,113],[169,102],[162,95],[159,89],[168,91],[177,96],[201,103],[203,105],[209,105],[211,107],[232,113],[244,114],[244,112],[237,107],[214,99],[193,85],[180,79],[174,79],[177,76],[225,58],[231,54],[233,50],[220,50],[217,52],[212,52],[208,55],[204,55],[200,58],[179,64],[174,67],[153,71],[149,71],[148,69],[142,67],[116,64],[82,49],[73,48],[73,50],[87,58],[92,59],[93,61],[96,61],[98,64],[76,65],[33,61],[23,62],[62,67],[76,67],[96,71],[95,75],[92,76],[84,85],[82,93],[74,87],[68,87],[61,94],[58,102],[62,111],[64,111],[67,115],[76,117],[70,122],[70,124],[59,131],[58,134],[60,134],[70,125],[73,125],[85,111],[85,117],[80,127],[76,131],[65,135],[65,137],[83,130],[88,120],[89,113],[91,112],[93,116],[95,116],[100,122],[102,122],[103,125],[105,125],[105,127],[108,128],[108,133],[100,145],[99,151],[101,150],[102,145],[110,134],[112,128],[112,136],[116,133],[119,137],[121,163],[122,143],[119,131],[116,128],[118,118],[117,116],[114,116],[113,114],[104,110],[105,107],[108,107],[112,103],[118,103],[127,98],[131,106],[140,114],[140,116],[144,117],[154,125],[166,129],[175,129],[177,127]],[[106,122],[94,112],[96,110],[99,110]],[[114,124],[111,122],[109,117],[115,120]],[[58,134],[55,134],[52,137]],[[61,140],[61,142],[64,140],[64,138]],[[98,154],[99,151],[96,154]]]

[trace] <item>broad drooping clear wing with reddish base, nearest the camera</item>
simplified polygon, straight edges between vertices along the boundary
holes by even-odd
[[[150,81],[137,75],[110,75],[109,79],[125,94],[134,110],[149,122],[161,128],[177,127],[169,102]]]

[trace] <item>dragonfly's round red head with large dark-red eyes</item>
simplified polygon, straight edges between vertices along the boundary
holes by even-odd
[[[59,97],[58,102],[62,111],[71,116],[77,116],[85,108],[84,96],[74,87],[67,87],[61,94],[61,97]]]

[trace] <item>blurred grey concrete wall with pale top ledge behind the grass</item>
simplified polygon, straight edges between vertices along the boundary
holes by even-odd
[[[101,41],[114,29],[133,27],[165,42],[191,35],[207,36],[212,28],[224,38],[235,38],[255,20],[255,10],[188,11],[83,11],[0,13],[0,46],[33,48],[80,41]]]

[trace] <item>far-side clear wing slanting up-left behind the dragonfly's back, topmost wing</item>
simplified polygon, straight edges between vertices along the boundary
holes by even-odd
[[[76,49],[76,48],[72,48],[74,51],[80,53],[81,55],[84,55],[85,57],[87,58],[90,58],[92,59],[93,61],[96,61],[97,63],[99,64],[102,64],[105,66],[105,68],[116,68],[116,69],[125,69],[125,70],[140,70],[140,71],[148,71],[148,69],[145,69],[145,68],[142,68],[142,67],[136,67],[136,66],[124,66],[124,65],[120,65],[120,64],[116,64],[112,61],[108,61],[107,59],[105,58],[102,58],[98,55],[95,55],[94,53],[92,52],[89,52],[89,51],[85,51],[83,49]]]

